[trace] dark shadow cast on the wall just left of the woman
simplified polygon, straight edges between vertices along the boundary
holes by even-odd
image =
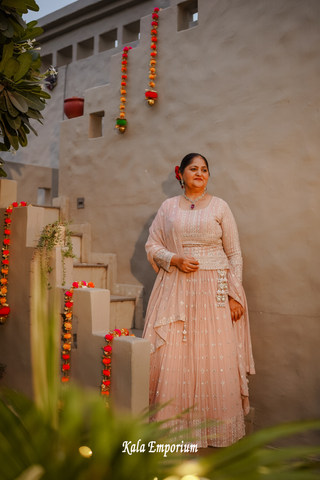
[[[178,181],[175,179],[174,173],[172,172],[168,175],[167,180],[162,182],[162,191],[167,198],[171,198],[177,195],[177,183]],[[158,207],[160,207],[160,205],[161,204],[159,203]],[[151,224],[156,214],[157,212],[151,215],[148,221],[144,224],[130,260],[132,275],[138,280],[141,285],[144,286],[145,289],[143,299],[144,315],[153,288],[153,284],[156,279],[156,272],[153,270],[150,263],[148,262],[145,250],[145,244],[149,236],[149,228],[151,227]]]

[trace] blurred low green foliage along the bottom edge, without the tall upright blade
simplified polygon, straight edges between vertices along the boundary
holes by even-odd
[[[203,459],[190,455],[122,453],[123,442],[169,443],[168,431],[146,418],[116,415],[97,393],[64,389],[58,427],[35,404],[12,391],[0,400],[0,479],[14,480],[179,480],[186,474],[212,480],[313,480],[319,472],[320,447],[264,448],[264,444],[309,428],[320,421],[285,424],[262,430]],[[172,441],[172,440],[171,440]],[[79,447],[93,454],[84,458]],[[147,449],[148,450],[148,449]],[[186,461],[188,460],[188,461]],[[174,462],[173,462],[174,461]],[[174,466],[174,464],[176,466]],[[20,477],[19,477],[20,479]]]

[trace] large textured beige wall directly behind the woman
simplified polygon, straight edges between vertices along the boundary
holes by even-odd
[[[157,104],[143,100],[146,17],[129,54],[128,129],[114,129],[118,54],[110,85],[88,90],[85,115],[62,123],[59,193],[76,223],[91,223],[93,251],[118,255],[119,281],[150,293],[148,227],[179,194],[174,166],[205,155],[209,192],[229,203],[240,231],[257,425],[319,416],[320,3],[199,0],[198,27],[182,32],[173,3],[160,14]],[[103,137],[88,139],[89,114],[100,110]]]

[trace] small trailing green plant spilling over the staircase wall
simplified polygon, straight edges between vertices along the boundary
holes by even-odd
[[[52,258],[52,250],[57,245],[62,246],[61,255],[62,255],[62,285],[65,285],[65,276],[66,276],[66,267],[65,259],[66,258],[76,258],[76,255],[73,253],[73,246],[71,236],[74,234],[69,230],[68,226],[71,222],[60,222],[57,220],[54,223],[46,225],[40,235],[38,245],[36,247],[37,251],[41,251],[40,262],[42,263],[43,269],[46,272],[47,276],[47,286],[50,289],[50,283],[48,281],[48,275],[51,273],[52,268],[50,267],[50,260]]]

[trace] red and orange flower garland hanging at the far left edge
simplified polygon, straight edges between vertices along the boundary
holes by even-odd
[[[4,213],[4,239],[2,247],[2,265],[0,280],[0,324],[5,323],[10,314],[10,307],[7,302],[8,294],[8,274],[9,274],[9,249],[11,235],[11,214],[12,210],[17,207],[26,207],[26,202],[13,202],[8,206]]]

